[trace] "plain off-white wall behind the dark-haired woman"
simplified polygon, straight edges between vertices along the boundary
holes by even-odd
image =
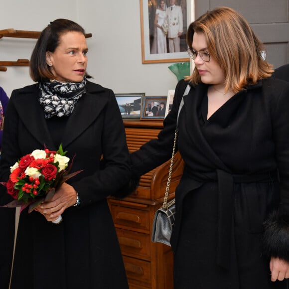
[[[1,3],[0,30],[41,31],[56,18],[78,22],[87,33],[88,72],[92,81],[115,93],[167,95],[174,89],[172,63],[142,64],[140,0],[7,0]],[[0,39],[0,60],[29,59],[36,39]],[[28,67],[8,66],[0,72],[0,86],[11,91],[32,84]]]

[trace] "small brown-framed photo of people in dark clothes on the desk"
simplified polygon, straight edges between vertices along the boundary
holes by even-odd
[[[166,99],[166,96],[144,96],[141,119],[164,119]]]

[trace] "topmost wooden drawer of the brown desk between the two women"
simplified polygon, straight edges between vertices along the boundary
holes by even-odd
[[[122,207],[112,204],[111,212],[115,225],[125,226],[128,229],[140,229],[149,233],[149,211]]]

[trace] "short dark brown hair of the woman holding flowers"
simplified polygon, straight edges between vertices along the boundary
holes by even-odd
[[[85,35],[84,29],[79,24],[68,19],[56,19],[43,29],[30,59],[30,76],[34,81],[39,82],[54,78],[46,63],[46,52],[54,52],[59,45],[60,36],[70,31]],[[90,78],[89,75],[87,77]]]

